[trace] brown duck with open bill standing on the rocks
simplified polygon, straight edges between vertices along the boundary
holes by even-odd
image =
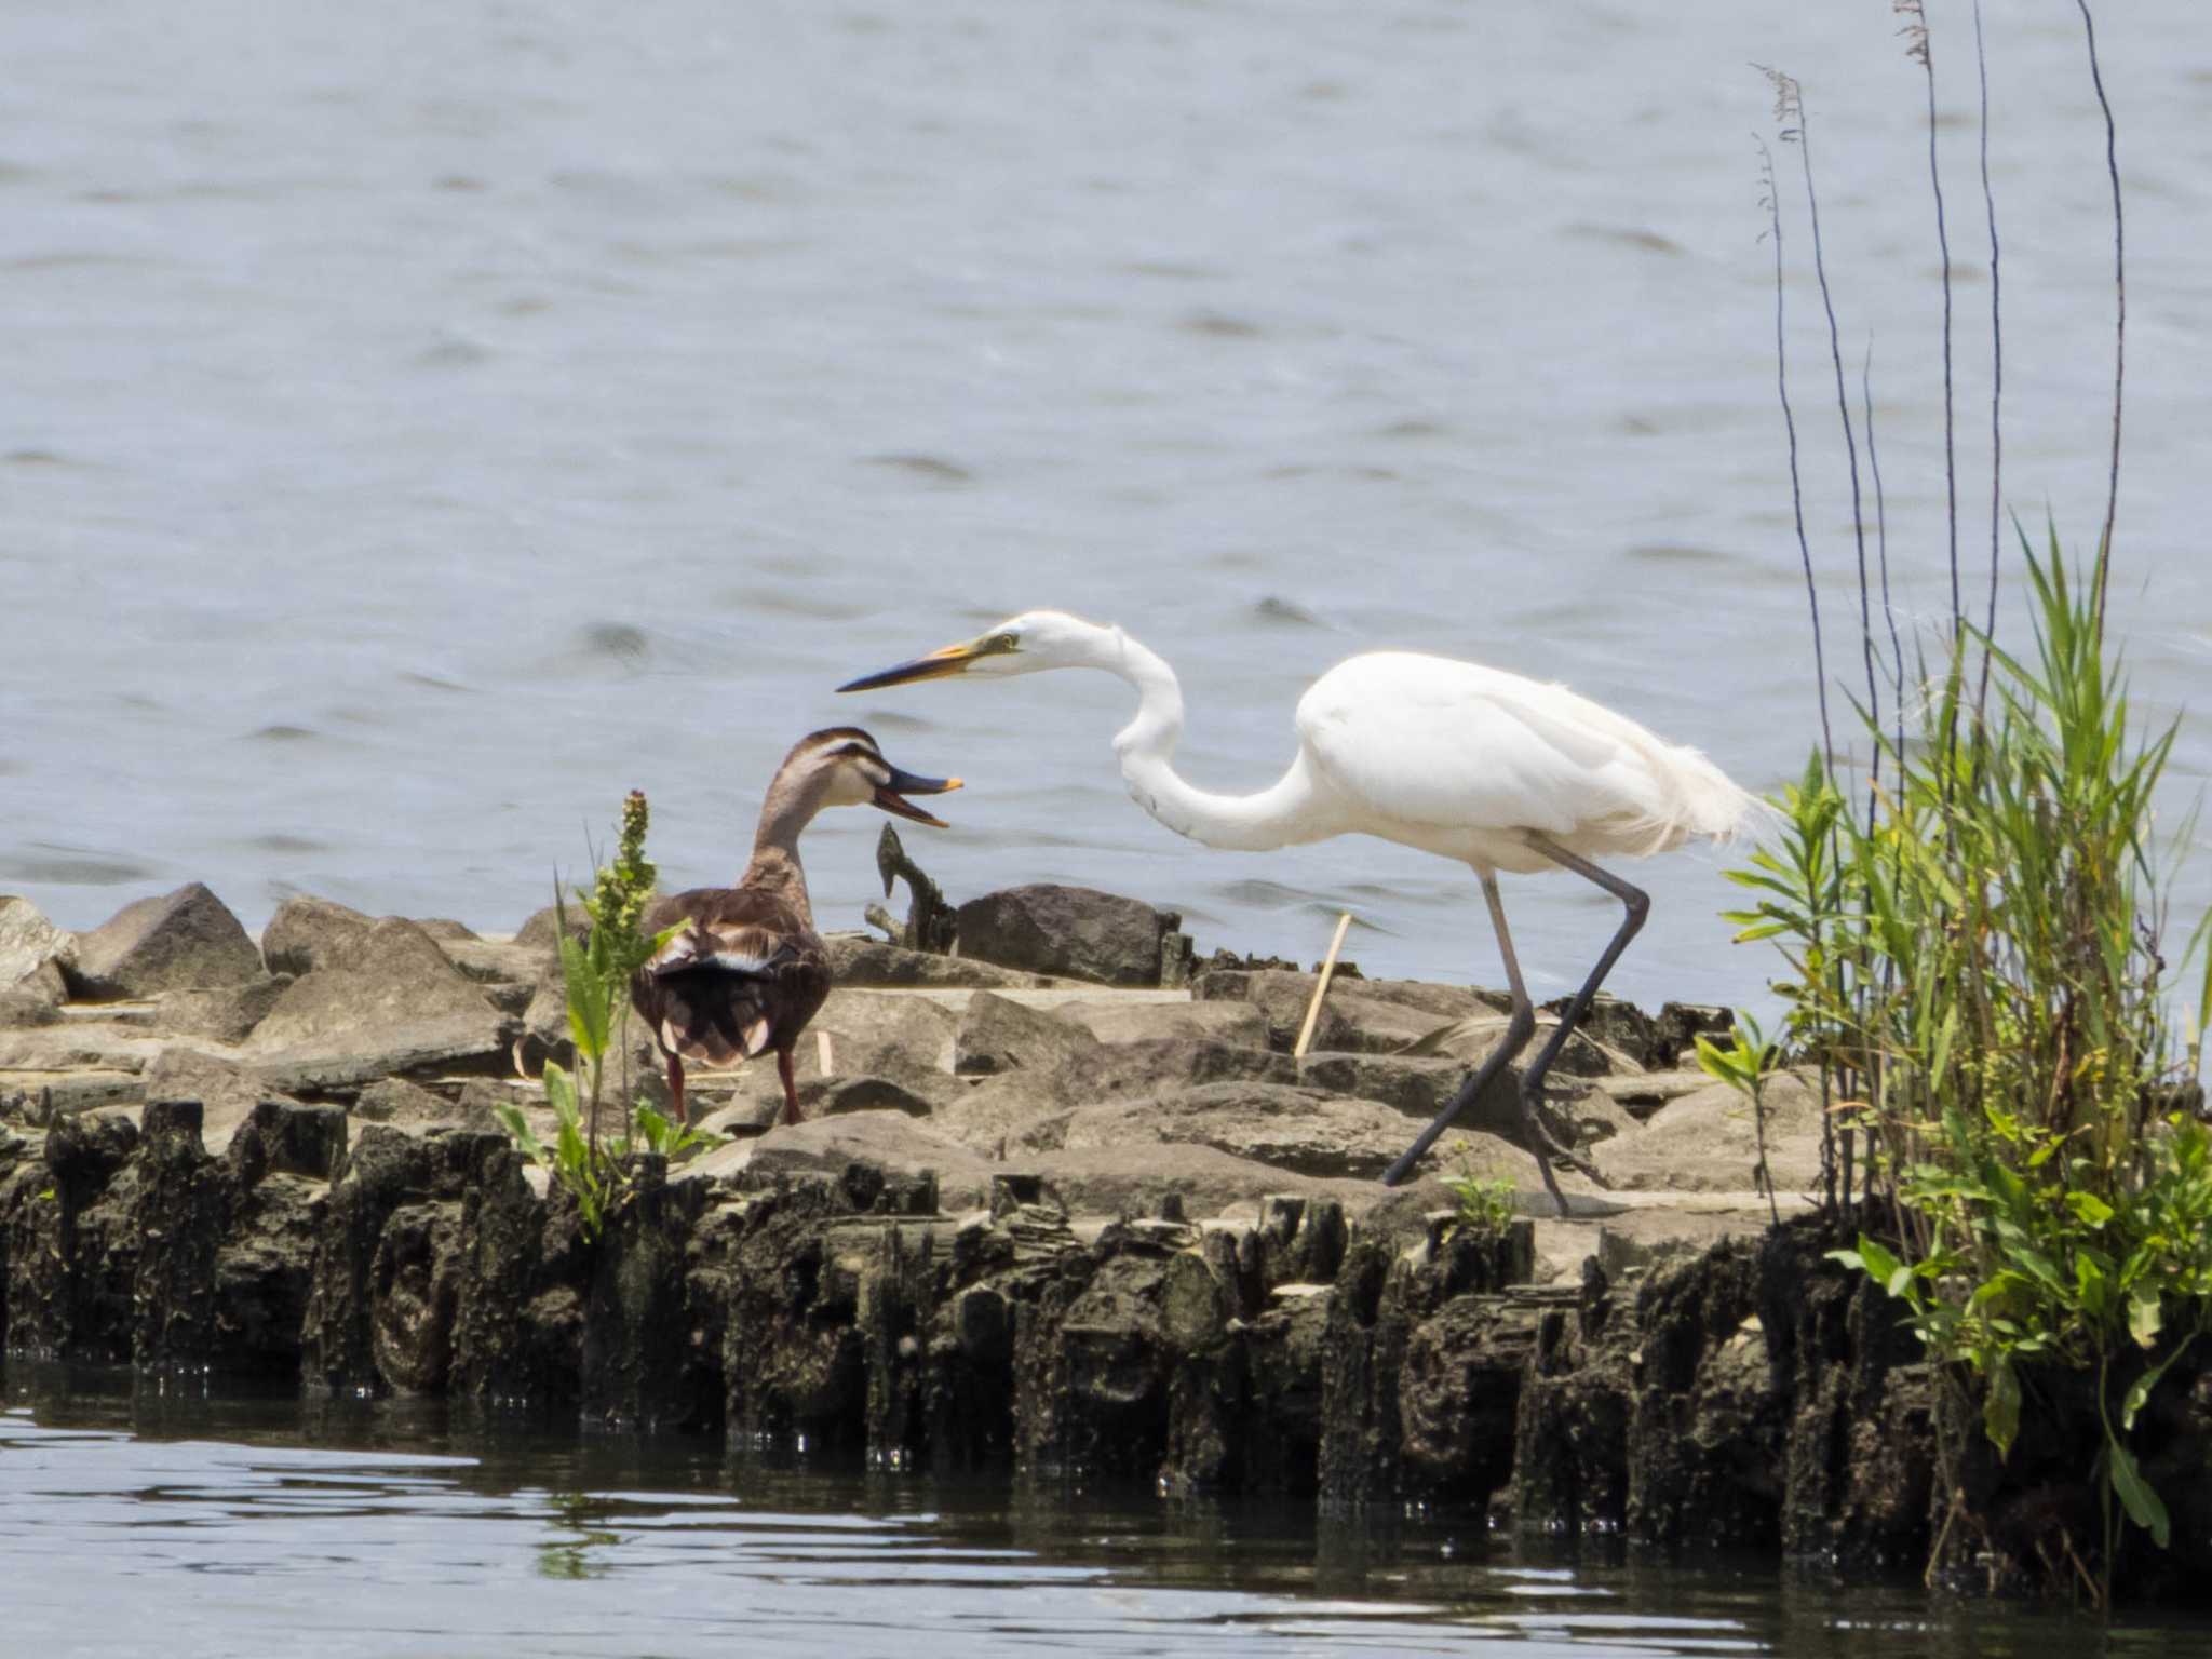
[[[695,887],[646,909],[648,936],[684,929],[630,980],[630,1004],[668,1057],[677,1121],[690,1121],[686,1060],[734,1066],[770,1048],[783,1077],[783,1121],[799,1121],[792,1048],[830,995],[830,951],[814,931],[799,834],[823,807],[860,805],[945,830],[942,818],[905,796],[958,787],[960,779],[900,772],[858,726],[812,732],[783,757],[768,785],[752,863],[737,887]]]

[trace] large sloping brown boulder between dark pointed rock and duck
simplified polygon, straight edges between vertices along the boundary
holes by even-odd
[[[316,949],[248,1051],[292,1088],[345,1088],[502,1051],[500,1011],[418,925],[385,918]]]

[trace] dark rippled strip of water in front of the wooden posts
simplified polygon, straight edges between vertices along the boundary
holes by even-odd
[[[1303,1506],[730,1467],[684,1440],[482,1431],[11,1369],[9,1650],[2181,1659],[2212,1626],[1840,1593],[1772,1564],[1582,1557]]]

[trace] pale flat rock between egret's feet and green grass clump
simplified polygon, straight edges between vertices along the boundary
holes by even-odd
[[[1820,1183],[1820,1091],[1798,1073],[1767,1084],[1767,1168],[1776,1192]],[[1661,1106],[1630,1135],[1599,1144],[1590,1161],[1628,1192],[1747,1192],[1759,1186],[1752,1104],[1710,1084]]]

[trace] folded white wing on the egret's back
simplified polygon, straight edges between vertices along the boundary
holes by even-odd
[[[1644,763],[1657,739],[1635,721],[1449,657],[1332,668],[1298,701],[1298,737],[1354,812],[1400,823],[1566,836],[1659,805]]]

